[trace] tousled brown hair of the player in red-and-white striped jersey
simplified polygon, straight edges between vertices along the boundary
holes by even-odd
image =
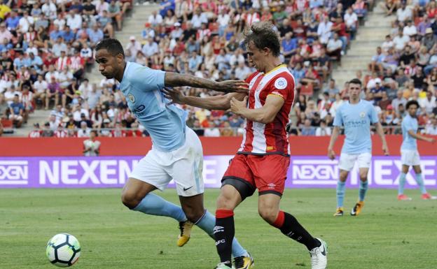
[[[259,50],[269,48],[275,57],[278,57],[281,51],[279,37],[270,22],[256,22],[251,25],[249,31],[244,33],[243,44],[248,46],[251,42]]]

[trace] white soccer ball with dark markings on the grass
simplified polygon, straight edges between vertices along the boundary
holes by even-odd
[[[69,267],[81,256],[81,245],[73,235],[59,233],[48,240],[46,255],[55,266]]]

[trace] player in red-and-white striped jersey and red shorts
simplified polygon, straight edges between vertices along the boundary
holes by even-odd
[[[312,269],[326,268],[326,243],[313,238],[295,217],[279,210],[290,163],[286,135],[288,115],[293,105],[295,81],[279,59],[280,44],[272,25],[253,24],[246,34],[249,64],[257,71],[247,78],[249,94],[226,94],[206,98],[183,96],[177,89],[165,89],[174,103],[210,110],[232,110],[246,119],[243,142],[223,175],[217,200],[216,238],[221,263],[218,269],[232,268],[231,244],[235,235],[234,209],[258,189],[258,212],[268,224],[302,243],[311,254]],[[252,268],[247,259],[244,266]]]

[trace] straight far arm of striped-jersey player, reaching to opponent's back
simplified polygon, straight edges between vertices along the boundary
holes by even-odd
[[[195,106],[197,108],[204,108],[208,110],[228,110],[230,108],[230,99],[236,98],[238,100],[244,99],[246,94],[225,94],[219,96],[209,96],[209,97],[196,97],[196,96],[186,96],[180,89],[169,89],[164,88],[162,92],[165,94],[165,98],[172,101],[172,103],[179,103],[181,105]]]

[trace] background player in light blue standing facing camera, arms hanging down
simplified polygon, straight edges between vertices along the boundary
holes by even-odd
[[[375,124],[376,132],[382,140],[382,150],[385,155],[389,149],[385,141],[384,131],[378,122],[377,112],[372,103],[361,100],[361,81],[357,78],[349,81],[349,102],[343,103],[334,118],[334,130],[328,146],[328,157],[335,159],[333,150],[335,140],[340,134],[340,127],[345,126],[345,143],[340,154],[340,179],[337,182],[337,210],[334,216],[343,215],[343,200],[345,198],[346,180],[349,171],[358,164],[360,187],[358,202],[352,208],[351,215],[359,215],[368,189],[367,174],[372,160],[372,139],[370,138],[370,124]]]

